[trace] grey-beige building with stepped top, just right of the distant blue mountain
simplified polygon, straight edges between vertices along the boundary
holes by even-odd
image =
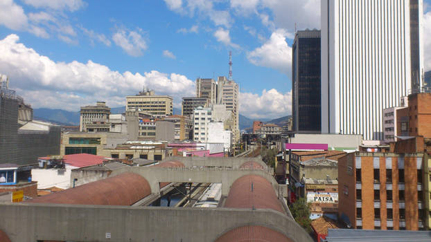
[[[107,123],[109,114],[111,114],[111,109],[106,106],[105,102],[96,102],[96,106],[81,106],[79,131],[85,131],[85,125],[91,124],[93,121]]]

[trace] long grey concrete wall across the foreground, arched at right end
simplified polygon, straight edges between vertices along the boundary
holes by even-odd
[[[263,225],[292,241],[313,241],[292,218],[273,210],[20,203],[1,204],[0,214],[0,230],[12,242],[202,242],[244,225]]]

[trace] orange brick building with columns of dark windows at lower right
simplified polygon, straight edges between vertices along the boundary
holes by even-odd
[[[398,150],[355,152],[340,158],[338,215],[342,221],[363,230],[423,230],[422,156]]]

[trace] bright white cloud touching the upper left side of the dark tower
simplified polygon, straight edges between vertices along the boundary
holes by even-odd
[[[290,76],[292,71],[292,48],[285,41],[287,36],[288,33],[285,30],[279,29],[272,32],[270,39],[261,47],[247,53],[247,59],[256,66],[274,68]]]

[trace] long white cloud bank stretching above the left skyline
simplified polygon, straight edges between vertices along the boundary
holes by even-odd
[[[125,96],[145,85],[156,93],[172,95],[175,106],[181,97],[195,94],[194,82],[184,75],[158,71],[118,73],[89,60],[54,62],[19,43],[17,35],[0,40],[0,73],[10,77],[10,86],[34,107],[78,110],[79,106],[106,100],[109,106],[124,106]]]

